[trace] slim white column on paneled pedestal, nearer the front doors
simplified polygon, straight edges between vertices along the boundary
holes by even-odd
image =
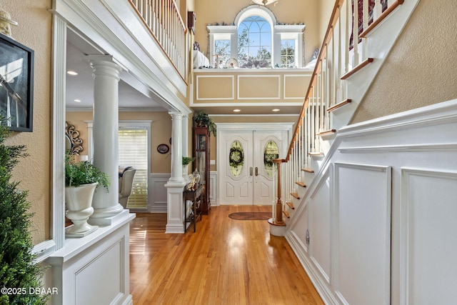
[[[184,233],[183,190],[186,181],[183,178],[182,145],[183,114],[170,111],[171,115],[171,177],[166,187],[166,229],[165,233]]]

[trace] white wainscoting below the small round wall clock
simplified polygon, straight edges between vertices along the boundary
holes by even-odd
[[[152,213],[166,213],[166,187],[171,174],[150,174],[148,211]]]

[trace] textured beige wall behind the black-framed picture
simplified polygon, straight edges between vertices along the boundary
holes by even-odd
[[[19,189],[29,191],[31,233],[38,244],[50,238],[51,221],[51,0],[1,1],[1,7],[19,22],[12,28],[14,39],[35,54],[34,131],[14,132],[6,143],[24,144],[30,154],[19,161],[13,178],[21,181]]]

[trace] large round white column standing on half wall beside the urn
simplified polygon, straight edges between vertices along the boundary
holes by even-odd
[[[94,194],[91,224],[110,225],[124,208],[119,204],[119,73],[112,56],[86,56],[94,71],[94,166],[109,175],[109,191],[99,186]]]

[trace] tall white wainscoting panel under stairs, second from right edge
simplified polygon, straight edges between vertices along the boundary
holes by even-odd
[[[335,164],[333,285],[343,304],[390,304],[391,167]]]

